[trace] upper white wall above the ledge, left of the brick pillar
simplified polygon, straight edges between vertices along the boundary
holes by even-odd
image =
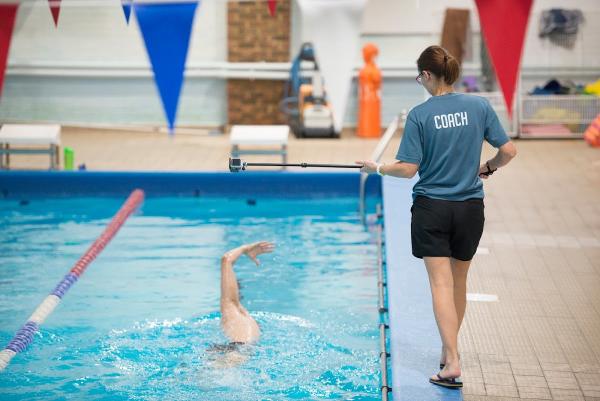
[[[127,26],[120,0],[104,6],[82,6],[62,0],[58,29],[44,1],[19,7],[10,65],[147,68],[148,58],[134,12]],[[93,4],[98,4],[94,2]],[[226,3],[207,0],[196,13],[188,65],[227,58]]]

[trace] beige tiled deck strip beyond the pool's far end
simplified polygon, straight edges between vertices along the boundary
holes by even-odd
[[[90,170],[227,170],[230,152],[228,135],[211,135],[208,130],[169,137],[159,132],[128,132],[64,128],[62,145],[75,151],[75,164]],[[393,159],[399,138],[392,140],[386,157]],[[377,140],[363,140],[351,133],[344,139],[300,140],[290,136],[290,162],[352,163],[369,157]],[[280,156],[244,156],[244,160],[281,161]],[[62,162],[61,162],[62,163]],[[47,155],[14,155],[11,168],[47,169]]]

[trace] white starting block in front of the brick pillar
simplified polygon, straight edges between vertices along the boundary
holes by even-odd
[[[241,154],[281,155],[282,162],[287,163],[287,143],[290,127],[287,125],[234,125],[231,127],[231,156]],[[276,146],[277,149],[244,149],[240,146]]]

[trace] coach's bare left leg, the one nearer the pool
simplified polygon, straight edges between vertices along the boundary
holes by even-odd
[[[423,260],[429,274],[433,313],[446,355],[446,366],[441,371],[441,376],[459,377],[458,314],[454,304],[452,264],[447,257],[425,257]],[[432,376],[432,379],[435,379],[435,376]]]

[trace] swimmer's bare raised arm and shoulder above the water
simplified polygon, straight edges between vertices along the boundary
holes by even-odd
[[[221,258],[221,328],[232,348],[255,343],[260,337],[258,323],[240,302],[240,290],[233,265],[240,256],[246,255],[259,266],[257,256],[273,252],[273,249],[273,243],[255,242],[232,249]]]

